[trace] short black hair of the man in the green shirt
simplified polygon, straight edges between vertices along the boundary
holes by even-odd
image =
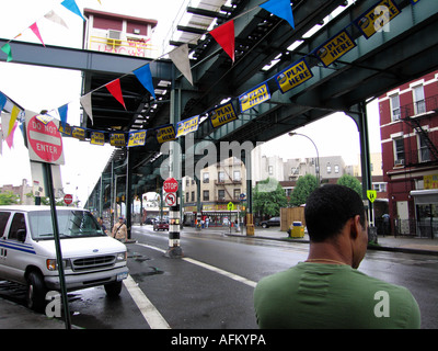
[[[306,202],[304,217],[311,241],[321,242],[341,233],[346,222],[360,216],[365,227],[365,207],[350,188],[326,184],[313,191]]]

